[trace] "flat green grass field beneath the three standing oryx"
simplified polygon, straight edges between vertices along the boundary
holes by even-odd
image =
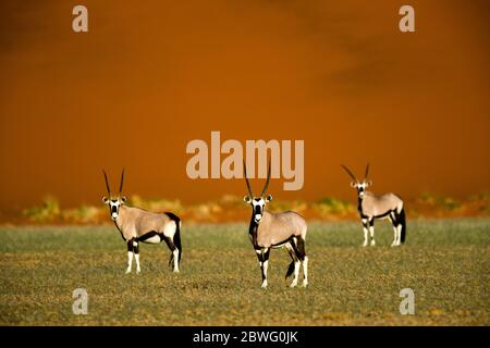
[[[164,244],[143,245],[142,274],[124,274],[114,227],[1,227],[0,325],[489,325],[490,220],[409,221],[407,244],[362,248],[358,223],[309,223],[309,287],[289,288],[272,250],[269,288],[245,224],[182,229],[181,273]],[[133,265],[134,266],[134,265]],[[72,312],[75,288],[88,314]],[[415,291],[402,315],[400,290]]]

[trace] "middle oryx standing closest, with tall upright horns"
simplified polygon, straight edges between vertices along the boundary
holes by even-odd
[[[252,206],[252,219],[248,234],[250,241],[257,253],[260,270],[262,273],[262,288],[267,287],[267,269],[269,263],[270,249],[286,247],[291,262],[285,278],[293,273],[294,278],[291,287],[297,285],[299,275],[299,263],[303,263],[303,286],[308,285],[308,257],[305,251],[306,221],[299,214],[293,211],[281,213],[270,213],[265,210],[266,203],[272,200],[272,196],[265,197],[270,181],[270,160],[267,173],[266,186],[260,196],[254,196],[250,183],[247,178],[245,162],[243,163],[244,176],[247,183],[248,196],[244,197],[244,201]]]

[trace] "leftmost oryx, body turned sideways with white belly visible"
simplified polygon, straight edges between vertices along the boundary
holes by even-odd
[[[139,243],[160,244],[162,240],[172,251],[169,265],[173,261],[173,272],[179,272],[179,264],[182,257],[181,246],[181,220],[173,213],[152,213],[139,208],[126,207],[126,197],[121,196],[124,170],[121,174],[121,185],[117,199],[111,196],[111,189],[106,178],[106,187],[109,198],[102,197],[103,203],[109,206],[111,219],[121,233],[122,238],[127,243],[127,269],[131,273],[133,256],[136,259],[136,273],[142,272],[139,268]]]

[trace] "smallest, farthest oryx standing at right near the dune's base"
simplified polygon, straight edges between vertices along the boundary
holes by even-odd
[[[371,246],[376,245],[375,220],[379,219],[389,219],[393,225],[394,238],[391,245],[392,247],[405,243],[406,222],[403,200],[394,194],[375,196],[372,192],[366,190],[366,188],[372,185],[370,181],[367,181],[369,163],[366,166],[366,173],[362,182],[345,165],[342,165],[342,167],[353,179],[351,186],[357,189],[357,210],[359,211],[364,228],[363,247],[368,245],[368,227],[371,235]]]

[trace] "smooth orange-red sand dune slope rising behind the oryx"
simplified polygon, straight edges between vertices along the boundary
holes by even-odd
[[[71,28],[89,11],[89,33]],[[339,164],[372,163],[375,191],[489,188],[488,1],[2,1],[0,211],[97,204],[101,169],[127,194],[198,202],[243,181],[191,181],[194,138],[305,139],[305,187],[354,199]],[[256,184],[257,185],[257,184]]]

